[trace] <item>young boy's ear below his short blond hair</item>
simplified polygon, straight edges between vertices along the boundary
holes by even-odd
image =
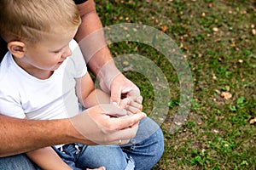
[[[9,49],[9,52],[17,58],[22,58],[26,53],[26,45],[24,42],[9,42],[7,48]]]

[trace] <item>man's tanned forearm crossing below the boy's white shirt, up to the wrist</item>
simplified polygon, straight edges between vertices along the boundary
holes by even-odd
[[[74,138],[76,135],[79,137],[80,134],[68,119],[36,121],[0,115],[0,122],[1,157],[80,140]]]

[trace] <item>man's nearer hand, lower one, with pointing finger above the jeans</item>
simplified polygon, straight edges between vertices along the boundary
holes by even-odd
[[[115,105],[96,105],[71,118],[81,140],[90,139],[96,144],[126,144],[137,133],[143,112],[126,116],[124,109]]]

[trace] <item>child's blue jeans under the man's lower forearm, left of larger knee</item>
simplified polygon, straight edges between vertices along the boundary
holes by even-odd
[[[62,160],[65,161],[69,167],[72,167],[73,170],[102,166],[109,170],[134,169],[134,161],[130,161],[128,156],[126,156],[118,145],[76,145],[77,147],[75,144],[66,144],[62,147],[62,151],[54,148],[57,154],[61,156]],[[80,149],[78,150],[78,148]]]

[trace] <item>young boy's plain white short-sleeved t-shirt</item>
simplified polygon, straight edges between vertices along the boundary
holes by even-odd
[[[46,80],[29,75],[7,53],[0,65],[0,113],[38,120],[77,115],[79,101],[75,78],[83,77],[87,68],[78,43],[72,40],[70,48],[72,56]]]

